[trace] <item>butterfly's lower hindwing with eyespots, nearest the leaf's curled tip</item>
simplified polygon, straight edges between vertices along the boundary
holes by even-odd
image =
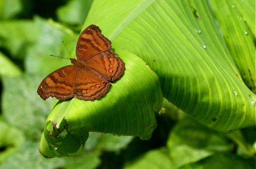
[[[100,99],[110,89],[110,82],[99,73],[84,66],[77,70],[74,84],[74,97],[80,100]]]

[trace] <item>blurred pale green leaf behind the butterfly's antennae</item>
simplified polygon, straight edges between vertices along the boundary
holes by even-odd
[[[33,24],[36,25],[37,30],[34,34],[35,41],[29,45],[27,52],[26,71],[46,76],[47,73],[70,64],[69,51],[76,44],[77,35],[67,27],[52,20],[35,17]],[[50,54],[66,59],[50,57]]]

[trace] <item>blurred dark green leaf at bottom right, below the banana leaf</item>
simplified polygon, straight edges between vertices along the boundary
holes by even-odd
[[[190,118],[180,121],[170,132],[167,147],[176,167],[232,149],[232,145],[224,134]]]

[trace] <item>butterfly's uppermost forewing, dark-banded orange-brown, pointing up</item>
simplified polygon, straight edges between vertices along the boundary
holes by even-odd
[[[94,55],[111,48],[111,41],[101,34],[96,25],[88,26],[79,36],[76,44],[78,61],[86,61]]]

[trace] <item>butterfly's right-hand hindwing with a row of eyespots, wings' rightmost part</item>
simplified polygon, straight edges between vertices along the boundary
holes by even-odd
[[[124,63],[113,50],[99,53],[87,61],[87,65],[108,81],[114,82],[124,72]]]

